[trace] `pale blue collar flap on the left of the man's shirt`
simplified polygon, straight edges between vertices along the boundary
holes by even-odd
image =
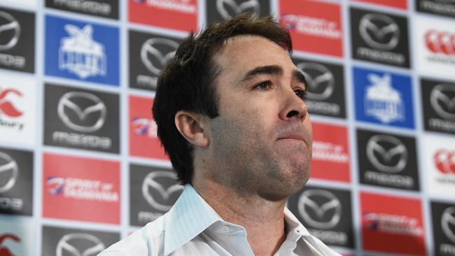
[[[165,255],[169,255],[217,221],[223,221],[195,188],[187,184],[165,222]]]

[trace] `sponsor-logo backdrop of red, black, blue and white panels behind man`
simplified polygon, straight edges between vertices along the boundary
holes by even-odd
[[[151,115],[191,29],[272,13],[308,81],[288,207],[343,255],[455,255],[454,0],[1,0],[0,255],[96,255],[181,193]]]

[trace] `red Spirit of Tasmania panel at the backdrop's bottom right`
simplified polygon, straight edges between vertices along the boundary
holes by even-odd
[[[425,255],[419,199],[361,192],[360,205],[364,250]]]

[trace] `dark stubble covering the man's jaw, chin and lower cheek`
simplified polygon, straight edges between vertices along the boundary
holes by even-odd
[[[217,183],[243,196],[257,195],[267,201],[287,199],[307,183],[311,157],[302,152],[302,163],[283,159],[286,155],[279,155],[272,139],[279,127],[266,131],[246,117],[233,121],[222,115],[212,120],[211,131]]]

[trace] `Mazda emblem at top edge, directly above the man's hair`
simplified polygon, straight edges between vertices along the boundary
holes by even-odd
[[[254,13],[255,15],[259,15],[260,5],[258,0],[216,0],[216,10],[218,10],[218,13],[220,13],[223,19],[227,20],[240,13]]]

